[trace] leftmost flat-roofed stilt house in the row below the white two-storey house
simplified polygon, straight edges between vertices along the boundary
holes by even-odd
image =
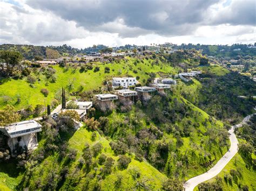
[[[97,104],[99,108],[103,111],[106,111],[107,109],[113,108],[113,101],[118,100],[117,95],[113,94],[97,94],[95,95],[97,97]]]

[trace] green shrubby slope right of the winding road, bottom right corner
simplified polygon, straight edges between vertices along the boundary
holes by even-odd
[[[252,146],[255,147],[255,128],[256,116],[252,117],[248,125],[242,126],[236,130],[237,136],[240,138],[240,150],[234,158],[226,165],[216,178],[201,183],[198,188],[221,187],[223,190],[255,190],[256,176],[255,171],[255,154]],[[199,189],[199,190],[200,190]]]

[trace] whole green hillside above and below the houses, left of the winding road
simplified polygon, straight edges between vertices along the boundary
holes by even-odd
[[[248,77],[220,66],[198,67],[197,60],[186,56],[183,59],[190,69],[203,74],[187,83],[177,79],[177,86],[166,90],[165,95],[152,93],[147,102],[137,98],[133,105],[115,101],[108,112],[97,108],[93,95],[113,92],[113,76],[134,76],[143,86],[154,77],[175,75],[183,69],[161,55],[148,55],[112,63],[33,68],[26,76],[1,79],[0,109],[13,105],[22,119],[41,116],[44,104],[55,108],[62,87],[68,100],[92,100],[95,108],[77,131],[70,121],[42,119],[37,150],[24,155],[20,151],[14,161],[0,161],[4,169],[0,188],[159,190],[167,180],[170,185],[176,181],[182,186],[206,172],[230,145],[229,125],[220,120],[234,116],[238,120],[252,112],[248,105],[254,100],[238,102],[237,95],[254,94],[254,84]],[[235,83],[237,86],[230,88]],[[49,94],[43,94],[42,89]],[[11,174],[6,164],[19,168]]]

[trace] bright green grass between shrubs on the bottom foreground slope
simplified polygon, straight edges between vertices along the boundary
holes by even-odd
[[[136,187],[137,181],[146,181],[146,185],[149,186],[150,189],[160,189],[163,181],[167,178],[165,175],[161,174],[157,169],[153,168],[150,164],[145,161],[139,162],[132,158],[131,163],[129,164],[127,169],[120,171],[117,168],[117,159],[118,156],[114,155],[110,145],[109,140],[102,137],[97,133],[97,137],[94,141],[91,140],[91,131],[86,130],[85,127],[77,130],[73,136],[69,139],[68,145],[71,148],[77,150],[77,156],[75,161],[70,162],[69,164],[65,163],[65,159],[59,160],[58,154],[52,154],[49,157],[45,158],[41,164],[39,164],[32,173],[31,179],[29,180],[29,188],[31,190],[36,189],[36,182],[40,181],[42,185],[45,185],[48,181],[47,177],[49,173],[59,172],[64,166],[69,167],[69,172],[76,172],[76,178],[73,178],[76,186],[70,186],[70,175],[62,182],[59,189],[69,189],[69,190],[82,190],[84,189],[84,185],[86,184],[86,173],[84,169],[78,169],[78,160],[82,157],[83,148],[85,143],[88,143],[90,146],[96,143],[101,143],[103,145],[102,153],[106,154],[107,157],[111,157],[116,160],[114,164],[114,168],[112,169],[112,173],[107,175],[105,179],[100,180],[99,185],[105,190],[114,190],[117,189],[117,184],[115,183],[120,175],[122,175],[122,181],[118,186],[118,189],[132,189]],[[93,161],[97,161],[97,158],[94,158]],[[98,171],[96,174],[99,174],[100,165],[97,165]],[[54,169],[54,170],[53,170]],[[140,173],[140,177],[138,179],[133,179],[131,175],[132,169],[136,169]],[[91,170],[93,174],[94,169]],[[74,180],[75,179],[75,180]],[[76,180],[78,180],[76,182]],[[129,180],[129,181],[128,181]],[[56,180],[58,181],[58,180]],[[87,185],[86,190],[93,190],[97,185],[97,176],[90,179],[89,185]]]

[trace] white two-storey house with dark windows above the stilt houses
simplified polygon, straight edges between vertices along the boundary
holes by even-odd
[[[112,88],[123,87],[123,89],[128,89],[131,86],[135,86],[139,82],[136,77],[113,77],[112,78]]]

